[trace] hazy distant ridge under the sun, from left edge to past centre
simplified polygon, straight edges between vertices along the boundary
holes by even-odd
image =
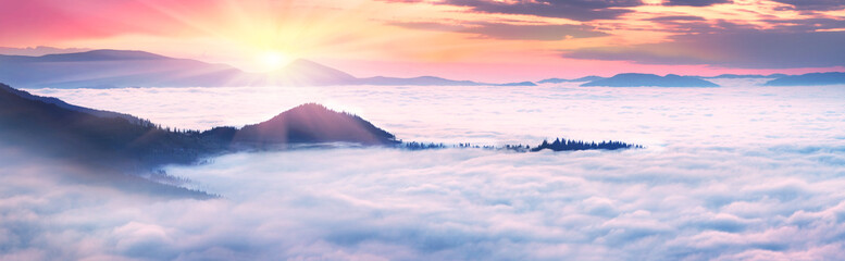
[[[0,82],[23,88],[533,84],[487,84],[434,76],[358,78],[303,59],[275,72],[249,73],[226,64],[126,50],[92,50],[41,57],[0,54]]]

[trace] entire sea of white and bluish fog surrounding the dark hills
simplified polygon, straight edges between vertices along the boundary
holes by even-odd
[[[845,260],[845,86],[34,89],[177,128],[305,102],[403,140],[622,140],[514,153],[305,149],[169,166],[212,200],[0,158],[0,260]]]

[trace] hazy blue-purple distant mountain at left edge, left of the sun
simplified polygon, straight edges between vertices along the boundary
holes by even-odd
[[[237,86],[254,78],[228,65],[122,50],[0,55],[0,82],[25,88]]]

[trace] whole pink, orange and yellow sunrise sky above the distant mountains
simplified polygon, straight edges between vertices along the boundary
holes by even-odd
[[[132,49],[250,72],[308,59],[359,77],[798,74],[845,71],[843,45],[837,0],[0,2],[2,53]]]

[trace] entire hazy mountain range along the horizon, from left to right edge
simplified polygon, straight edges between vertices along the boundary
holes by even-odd
[[[40,57],[0,54],[0,80],[21,88],[120,88],[120,87],[224,87],[224,86],[535,86],[533,82],[489,84],[435,76],[359,78],[313,61],[299,59],[274,72],[249,73],[226,65],[176,59],[144,51],[91,50]],[[539,84],[584,83],[611,87],[716,87],[707,79],[772,78],[765,86],[842,84],[845,73],[805,75],[679,76],[669,74],[618,74],[612,77],[547,78]]]

